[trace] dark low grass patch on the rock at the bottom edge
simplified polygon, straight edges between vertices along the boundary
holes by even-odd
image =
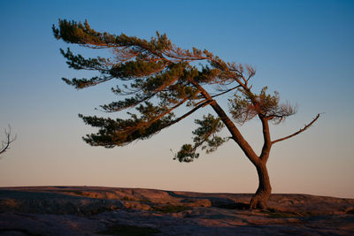
[[[141,227],[135,225],[113,225],[105,231],[96,232],[104,235],[121,235],[121,236],[150,236],[153,233],[160,232],[158,229],[150,227]]]

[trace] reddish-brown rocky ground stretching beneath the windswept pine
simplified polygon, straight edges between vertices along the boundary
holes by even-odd
[[[354,199],[142,188],[0,188],[0,235],[354,235]]]

